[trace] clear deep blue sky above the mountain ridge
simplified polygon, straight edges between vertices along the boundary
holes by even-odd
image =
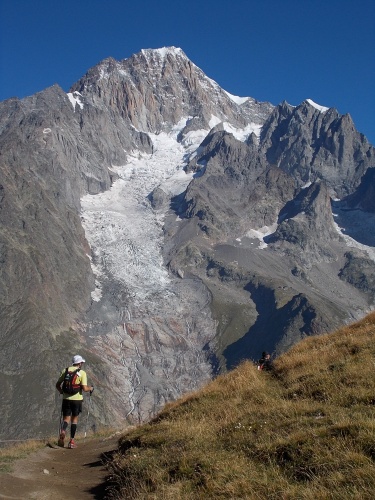
[[[231,94],[310,98],[375,145],[375,0],[0,0],[0,100],[172,45]]]

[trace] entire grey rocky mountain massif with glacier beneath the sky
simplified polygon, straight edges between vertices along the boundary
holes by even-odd
[[[364,315],[374,156],[349,116],[238,99],[176,48],[0,103],[0,435],[55,430],[76,352],[116,425]]]

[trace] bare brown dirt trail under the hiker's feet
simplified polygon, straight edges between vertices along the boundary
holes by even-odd
[[[108,471],[104,465],[117,449],[120,434],[77,440],[70,450],[47,445],[0,473],[0,499],[104,499]]]

